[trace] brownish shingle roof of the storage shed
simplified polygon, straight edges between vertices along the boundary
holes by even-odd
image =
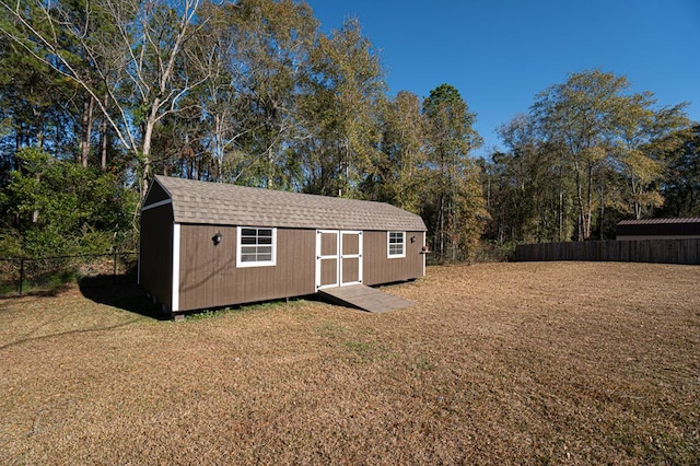
[[[425,231],[420,215],[384,202],[156,176],[178,223]],[[148,202],[148,200],[147,200]]]

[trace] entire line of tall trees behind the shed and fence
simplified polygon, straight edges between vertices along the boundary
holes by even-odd
[[[698,213],[698,128],[612,73],[545,90],[478,160],[457,89],[389,95],[359,22],[304,2],[0,0],[0,33],[5,255],[132,247],[153,174],[390,202],[439,260]]]

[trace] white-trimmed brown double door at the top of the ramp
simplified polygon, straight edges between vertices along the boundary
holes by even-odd
[[[316,290],[362,283],[362,232],[316,230]]]

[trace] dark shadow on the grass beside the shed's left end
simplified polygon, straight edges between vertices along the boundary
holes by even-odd
[[[135,276],[98,276],[80,280],[83,296],[100,304],[117,307],[158,321],[168,321],[170,315],[161,312],[137,283]]]

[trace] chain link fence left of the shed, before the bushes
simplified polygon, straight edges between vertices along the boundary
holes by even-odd
[[[50,291],[83,277],[127,275],[136,270],[136,252],[55,257],[0,258],[0,296]]]

